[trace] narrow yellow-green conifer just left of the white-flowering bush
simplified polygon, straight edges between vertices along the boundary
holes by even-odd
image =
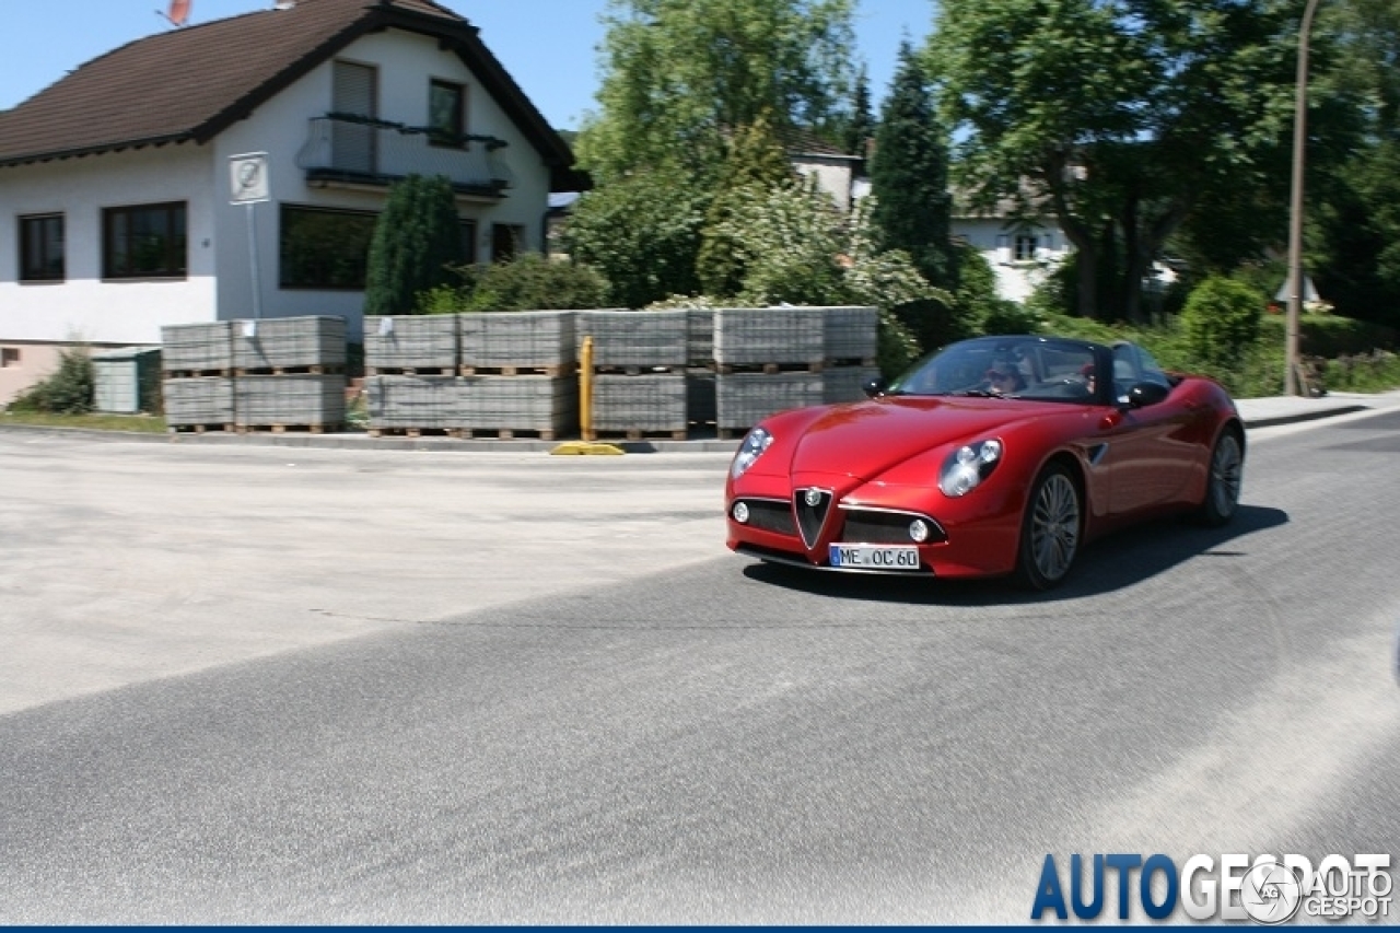
[[[739,129],[720,175],[720,186],[701,234],[696,272],[700,287],[711,296],[732,296],[743,282],[743,259],[731,234],[731,219],[746,205],[792,179],[792,164],[773,132],[769,113]]]

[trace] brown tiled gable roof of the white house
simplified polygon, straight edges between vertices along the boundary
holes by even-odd
[[[451,10],[433,0],[298,0],[153,35],[88,62],[0,112],[0,165],[204,143],[354,39],[391,27],[441,39],[546,164],[563,170],[573,161],[476,27]]]

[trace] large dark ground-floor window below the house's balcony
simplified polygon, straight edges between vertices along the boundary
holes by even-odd
[[[367,210],[283,205],[279,284],[363,291],[374,220]]]

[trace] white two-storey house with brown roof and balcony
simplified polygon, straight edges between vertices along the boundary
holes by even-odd
[[[462,259],[540,249],[568,146],[431,0],[267,0],[140,39],[0,113],[0,403],[60,347],[343,315],[388,186],[447,175]],[[237,202],[237,203],[235,203]]]

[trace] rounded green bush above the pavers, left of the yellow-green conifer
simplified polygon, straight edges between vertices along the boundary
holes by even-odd
[[[685,174],[638,171],[578,199],[566,248],[602,272],[610,304],[643,308],[673,294],[694,294],[710,200]]]

